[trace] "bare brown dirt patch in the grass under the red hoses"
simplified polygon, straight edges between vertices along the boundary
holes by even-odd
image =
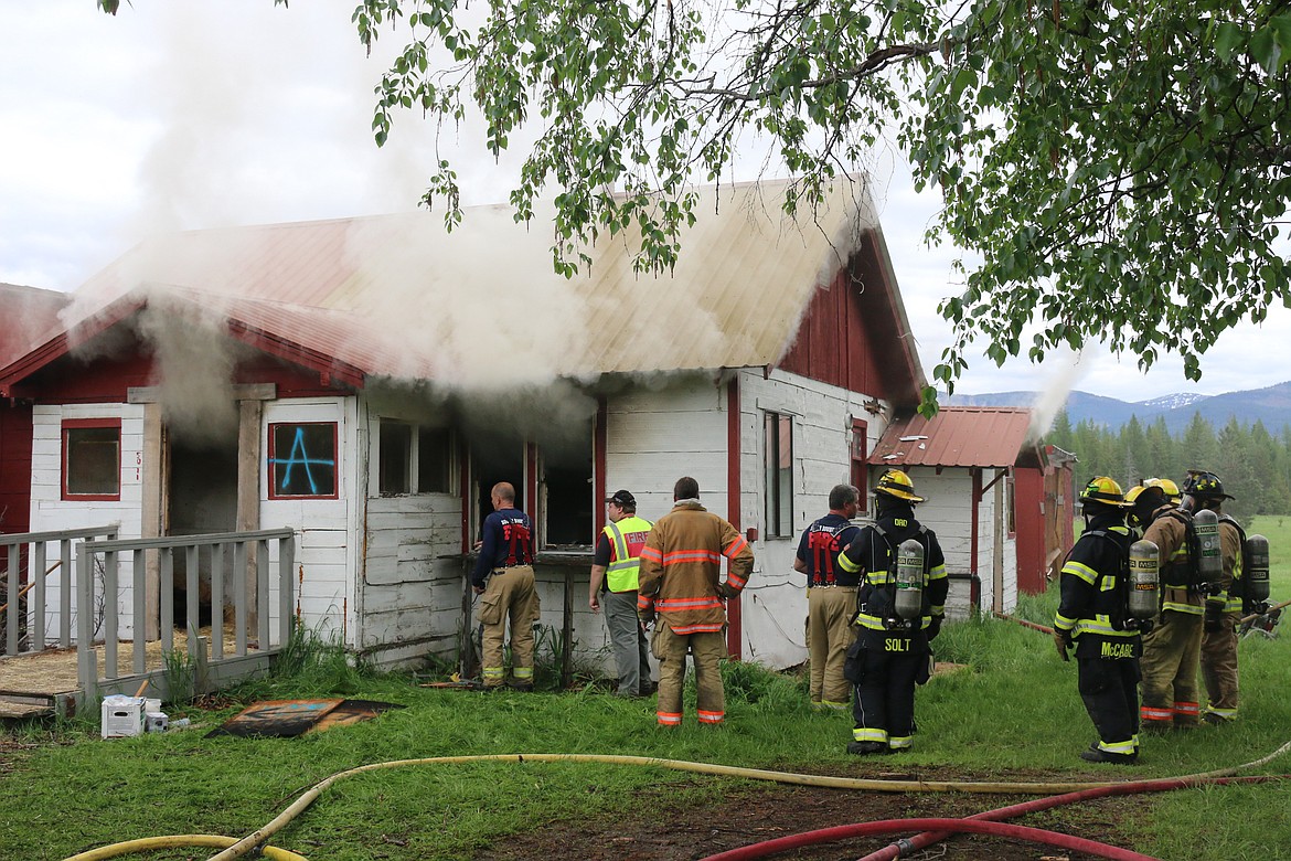
[[[871,775],[873,776],[873,775]],[[897,777],[908,777],[900,775]],[[1043,780],[1035,776],[937,775],[937,780]],[[682,861],[705,858],[738,847],[773,840],[817,829],[913,817],[966,817],[1016,804],[1028,798],[949,793],[862,793],[853,790],[740,785],[711,802],[678,805],[670,803],[666,785],[640,793],[635,811],[626,816],[604,815],[589,804],[580,818],[551,821],[531,834],[518,834],[475,857],[480,861],[528,861],[532,858],[582,858],[609,861]],[[1126,799],[1112,798],[1078,807],[1013,820],[1091,840],[1124,846],[1117,840],[1117,822],[1130,815]],[[900,838],[865,836],[780,852],[772,858],[799,861],[855,861]],[[908,858],[955,858],[989,861],[1086,861],[1097,856],[1013,839],[961,834],[930,846]]]

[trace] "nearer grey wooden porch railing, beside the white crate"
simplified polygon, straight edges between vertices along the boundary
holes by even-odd
[[[271,549],[276,547],[276,554]],[[156,569],[150,567],[148,555],[156,554]],[[232,594],[226,595],[225,562],[232,560]],[[271,630],[270,613],[270,568],[271,555],[276,555],[278,565],[278,626]],[[130,673],[121,674],[119,667],[119,643],[121,639],[123,613],[117,607],[116,595],[120,591],[120,567],[129,558],[127,582],[132,587],[129,627],[132,643]],[[200,536],[172,536],[164,538],[133,538],[123,541],[86,541],[79,547],[76,565],[76,603],[79,607],[96,607],[99,593],[96,589],[94,565],[102,558],[103,600],[103,663],[93,648],[77,649],[77,678],[81,694],[93,701],[105,693],[136,693],[136,685],[148,682],[159,694],[168,696],[169,669],[147,654],[146,622],[152,616],[148,607],[150,580],[156,595],[154,607],[159,613],[158,639],[161,656],[174,654],[174,571],[176,559],[183,559],[185,574],[185,625],[187,631],[187,658],[194,669],[198,685],[216,688],[222,682],[243,678],[269,667],[269,662],[290,639],[294,612],[293,569],[296,564],[296,541],[292,529],[269,529],[262,532],[227,532]],[[199,635],[199,567],[203,556],[209,563],[210,573],[210,634]],[[152,573],[150,571],[159,571]],[[225,642],[226,611],[232,617],[232,649]],[[92,613],[77,616],[79,644],[93,643],[94,629]],[[254,638],[254,642],[252,642]],[[252,649],[252,644],[254,648]]]

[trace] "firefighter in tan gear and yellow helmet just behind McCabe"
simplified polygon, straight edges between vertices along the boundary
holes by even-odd
[[[1143,731],[1190,729],[1201,722],[1197,667],[1202,648],[1202,594],[1189,536],[1192,518],[1170,503],[1159,484],[1126,493],[1130,525],[1157,545],[1161,611],[1143,635],[1139,725]]]

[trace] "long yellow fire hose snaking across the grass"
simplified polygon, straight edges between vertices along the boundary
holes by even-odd
[[[1257,768],[1277,759],[1287,750],[1291,750],[1291,741],[1286,742],[1276,751],[1250,763],[1221,768],[1219,771],[1186,775],[1175,778],[1180,782],[1205,784],[1215,777],[1230,777],[1246,768]],[[383,768],[403,768],[405,765],[431,765],[453,763],[483,763],[483,762],[509,762],[523,764],[531,763],[605,763],[612,765],[648,765],[655,768],[671,768],[675,771],[697,772],[701,775],[717,775],[720,777],[742,777],[745,780],[764,780],[777,784],[795,784],[799,786],[821,786],[830,789],[869,790],[875,793],[985,793],[997,795],[1057,795],[1061,793],[1074,793],[1082,789],[1095,789],[1103,786],[1119,785],[1119,781],[1103,782],[975,782],[975,781],[924,781],[924,780],[874,780],[865,777],[830,777],[828,775],[797,775],[793,772],[773,772],[762,768],[740,768],[737,765],[718,765],[714,763],[693,763],[682,759],[657,759],[655,756],[621,756],[612,754],[480,754],[471,756],[430,756],[426,759],[394,759],[383,763],[371,763],[359,765],[343,772],[337,772],[306,790],[285,811],[279,813],[261,829],[240,840],[214,835],[172,835],[159,838],[143,838],[127,843],[115,843],[80,855],[74,855],[66,861],[99,861],[101,858],[114,858],[130,852],[143,852],[173,846],[218,846],[227,847],[210,856],[209,861],[232,861],[259,847],[259,851],[270,858],[283,858],[287,861],[305,861],[302,856],[278,849],[265,843],[278,831],[283,830],[288,822],[296,818],[305,808],[314,803],[332,784],[343,777],[361,775],[363,772],[378,771]],[[183,843],[155,843],[158,840],[192,839],[201,842]],[[276,855],[275,855],[276,853]]]

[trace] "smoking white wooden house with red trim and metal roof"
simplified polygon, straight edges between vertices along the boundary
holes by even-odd
[[[692,475],[757,556],[732,653],[798,663],[798,536],[834,484],[868,488],[874,440],[926,385],[857,188],[797,222],[785,183],[702,188],[658,275],[602,240],[558,276],[550,222],[502,207],[451,234],[414,213],[145,241],[0,356],[5,408],[28,416],[26,443],[3,438],[6,465],[30,447],[25,525],[290,527],[301,618],[396,663],[454,652],[488,489],[509,480],[537,528],[542,623],[573,583],[593,654],[600,500],[629,488],[656,519]]]

